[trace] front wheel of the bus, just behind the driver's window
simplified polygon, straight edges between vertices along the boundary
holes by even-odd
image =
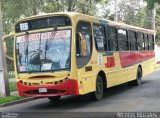
[[[101,76],[97,76],[96,91],[92,93],[94,100],[101,100],[103,98],[103,80]]]

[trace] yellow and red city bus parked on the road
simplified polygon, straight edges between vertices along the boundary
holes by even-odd
[[[20,96],[48,98],[140,85],[155,68],[153,30],[75,12],[51,13],[15,23],[14,67]]]

